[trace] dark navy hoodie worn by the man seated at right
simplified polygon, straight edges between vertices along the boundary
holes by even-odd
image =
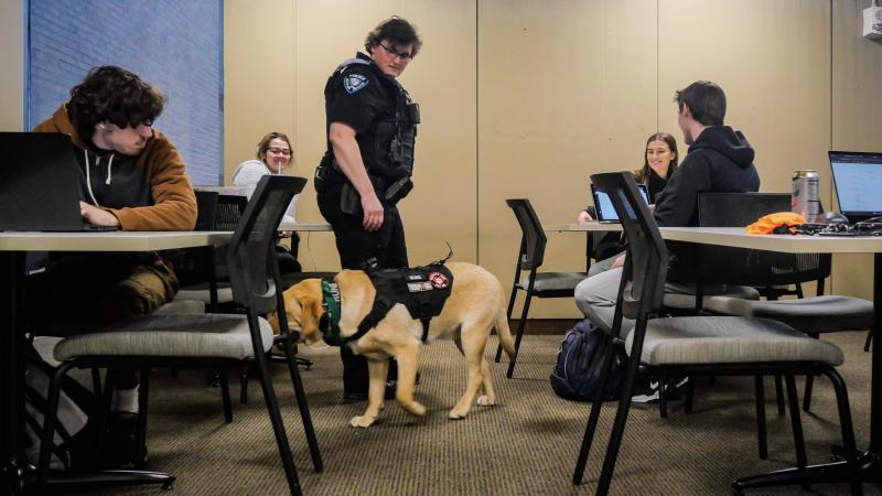
[[[686,160],[668,180],[655,204],[655,219],[665,227],[698,226],[699,193],[749,193],[760,190],[753,148],[741,131],[729,126],[706,128]],[[670,241],[668,280],[692,282],[697,278],[698,245]]]

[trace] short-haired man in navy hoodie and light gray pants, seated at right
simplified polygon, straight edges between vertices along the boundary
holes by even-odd
[[[692,83],[676,91],[675,101],[677,122],[689,152],[658,194],[653,215],[659,226],[695,227],[698,226],[699,193],[755,192],[760,190],[760,175],[753,164],[753,148],[744,134],[723,125],[725,93],[719,85],[707,80]],[[666,291],[695,294],[695,285],[689,283],[695,280],[696,269],[691,245],[668,244],[670,267]],[[621,267],[583,280],[576,288],[577,306],[585,316],[612,322],[621,280]],[[723,287],[704,288],[706,294],[724,290]],[[633,326],[633,321],[623,319],[623,335]],[[634,401],[644,399],[643,396],[652,400],[657,395],[657,391],[648,391],[641,398],[635,397]]]

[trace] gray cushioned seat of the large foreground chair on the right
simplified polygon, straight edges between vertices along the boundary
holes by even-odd
[[[625,339],[628,353],[633,336]],[[648,321],[641,359],[650,365],[815,362],[838,366],[845,357],[836,345],[783,322],[699,316]]]

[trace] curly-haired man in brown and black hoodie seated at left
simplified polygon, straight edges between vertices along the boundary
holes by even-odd
[[[196,197],[174,144],[152,128],[165,97],[137,75],[95,67],[35,132],[71,136],[80,170],[84,220],[120,230],[192,230]],[[25,283],[28,330],[67,336],[147,315],[178,292],[171,262],[157,252],[53,252]],[[135,370],[114,370],[115,448],[137,462]],[[118,427],[118,429],[117,429]],[[125,445],[125,446],[120,446]],[[116,455],[111,455],[116,456]],[[117,459],[119,460],[119,459]],[[123,460],[125,462],[126,460]]]

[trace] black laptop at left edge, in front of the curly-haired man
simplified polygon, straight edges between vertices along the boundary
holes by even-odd
[[[79,183],[69,136],[0,132],[0,230],[116,230],[83,220]]]

